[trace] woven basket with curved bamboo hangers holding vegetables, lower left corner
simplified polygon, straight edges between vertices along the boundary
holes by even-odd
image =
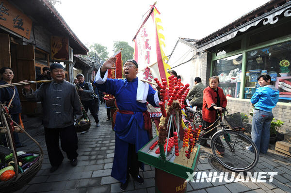
[[[6,122],[7,123],[7,122]],[[39,159],[36,161],[32,166],[30,166],[25,172],[22,174],[16,175],[14,178],[11,178],[7,181],[0,181],[0,193],[11,193],[15,192],[21,188],[23,188],[25,185],[28,184],[32,180],[32,178],[37,174],[37,172],[40,170],[43,162],[43,157],[44,157],[44,152],[38,142],[32,138],[30,134],[28,134],[20,125],[18,125],[16,122],[14,122],[20,130],[27,134],[30,139],[38,146],[40,149],[39,152],[32,151],[32,152],[27,152],[27,153],[36,153],[39,154]],[[8,127],[8,125],[7,125]],[[11,140],[11,139],[9,139]]]

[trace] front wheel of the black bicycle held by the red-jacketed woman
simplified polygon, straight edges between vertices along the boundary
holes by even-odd
[[[254,142],[245,134],[228,129],[224,131],[226,138],[223,131],[220,130],[212,136],[210,141],[213,155],[217,161],[234,172],[246,172],[255,167],[259,161],[259,152]],[[254,147],[254,152],[246,149],[249,146]]]

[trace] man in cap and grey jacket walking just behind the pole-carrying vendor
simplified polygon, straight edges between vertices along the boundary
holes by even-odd
[[[86,112],[88,112],[89,108],[91,114],[93,115],[93,118],[95,119],[96,126],[99,127],[97,105],[93,97],[93,86],[90,82],[85,82],[83,74],[77,74],[77,78],[79,81],[79,84],[77,84],[78,94],[81,98],[81,103],[84,106]]]

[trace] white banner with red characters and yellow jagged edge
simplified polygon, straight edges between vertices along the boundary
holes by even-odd
[[[137,76],[148,82],[153,82],[156,77],[159,80],[167,78],[169,74],[166,69],[170,69],[170,66],[163,61],[167,57],[161,46],[165,44],[161,40],[164,39],[160,31],[162,30],[161,19],[156,17],[159,14],[155,6],[152,6],[149,15],[133,38],[134,59],[139,65]]]

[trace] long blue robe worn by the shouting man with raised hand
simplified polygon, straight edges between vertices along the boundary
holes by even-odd
[[[143,112],[147,110],[146,103],[136,101],[138,78],[128,82],[126,79],[107,78],[103,84],[94,82],[97,89],[102,92],[113,94],[119,110],[134,112],[133,115],[117,113],[115,120],[115,150],[111,176],[122,183],[127,177],[128,148],[129,144],[135,145],[135,152],[142,148],[149,141],[148,134],[144,130]],[[146,101],[153,106],[156,91],[149,86]],[[144,164],[140,164],[144,170]]]

